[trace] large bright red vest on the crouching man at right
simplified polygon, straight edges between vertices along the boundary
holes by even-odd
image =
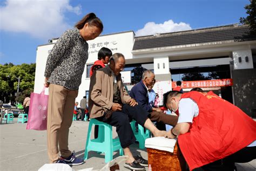
[[[178,142],[190,170],[223,159],[256,139],[256,122],[213,92],[192,91],[181,95],[199,107],[190,130]]]

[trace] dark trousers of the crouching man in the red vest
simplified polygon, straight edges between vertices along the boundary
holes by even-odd
[[[185,159],[178,147],[177,156],[180,161],[181,170],[186,170]],[[240,151],[226,156],[224,159],[208,163],[207,165],[201,166],[199,168],[193,169],[193,171],[234,171],[234,163],[245,163],[256,159],[256,146],[255,147],[245,147],[240,149]]]

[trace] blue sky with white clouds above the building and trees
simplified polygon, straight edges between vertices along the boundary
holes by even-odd
[[[0,0],[0,64],[35,63],[38,45],[95,12],[103,35],[137,36],[239,23],[249,0]]]

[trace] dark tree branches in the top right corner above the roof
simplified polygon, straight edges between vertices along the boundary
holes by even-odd
[[[250,2],[251,4],[245,5],[248,16],[246,18],[240,17],[240,23],[250,25],[251,35],[256,35],[256,0],[250,0]]]

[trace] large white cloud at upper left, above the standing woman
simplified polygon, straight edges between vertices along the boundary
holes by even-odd
[[[58,37],[72,27],[64,20],[66,11],[79,15],[81,6],[71,6],[69,0],[6,0],[0,6],[0,29],[43,39]]]

